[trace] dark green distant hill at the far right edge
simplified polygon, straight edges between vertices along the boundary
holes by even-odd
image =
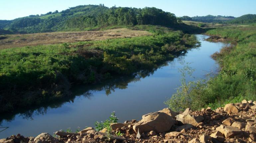
[[[228,21],[229,24],[251,24],[256,23],[256,14],[247,14],[234,20]]]

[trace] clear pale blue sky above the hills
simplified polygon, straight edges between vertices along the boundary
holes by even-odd
[[[208,14],[239,17],[256,14],[256,0],[0,0],[0,20],[100,3],[107,7],[156,7],[176,16],[190,17]]]

